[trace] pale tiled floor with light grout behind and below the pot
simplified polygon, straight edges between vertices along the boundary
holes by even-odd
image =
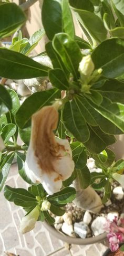
[[[12,187],[25,188],[25,182],[17,173],[14,164],[6,182]],[[0,255],[4,251],[18,254],[19,256],[102,256],[106,246],[102,243],[93,245],[72,245],[70,251],[64,242],[56,239],[43,226],[37,222],[35,229],[25,235],[19,233],[19,223],[24,212],[22,208],[5,200],[3,192],[0,194]]]

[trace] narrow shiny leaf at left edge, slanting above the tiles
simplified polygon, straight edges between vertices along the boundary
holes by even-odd
[[[2,190],[5,181],[8,177],[9,169],[11,168],[13,158],[14,158],[14,153],[10,154],[7,156],[5,160],[5,164],[3,165],[1,171],[0,171],[0,191]]]

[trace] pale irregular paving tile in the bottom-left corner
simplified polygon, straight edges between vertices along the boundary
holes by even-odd
[[[9,250],[11,248],[14,248],[16,245],[19,245],[18,234],[15,227],[7,227],[7,229],[1,234],[4,240],[4,246],[6,250]]]

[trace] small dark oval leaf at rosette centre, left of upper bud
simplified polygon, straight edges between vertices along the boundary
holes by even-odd
[[[61,69],[53,69],[49,71],[49,80],[59,90],[67,90],[69,88],[68,80],[65,73]]]

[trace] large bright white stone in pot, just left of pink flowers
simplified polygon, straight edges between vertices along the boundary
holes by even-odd
[[[91,224],[91,230],[94,235],[100,235],[105,232],[106,218],[98,216]]]

